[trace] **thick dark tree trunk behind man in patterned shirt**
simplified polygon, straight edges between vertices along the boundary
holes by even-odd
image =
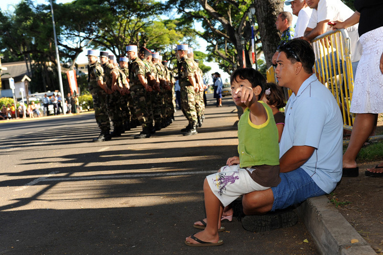
[[[266,59],[266,65],[270,66],[272,64],[272,55],[275,53],[280,41],[280,35],[275,27],[275,20],[277,15],[283,11],[283,1],[254,0],[254,6],[264,58]]]

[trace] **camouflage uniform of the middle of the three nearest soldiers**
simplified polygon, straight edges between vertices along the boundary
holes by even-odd
[[[145,64],[136,57],[129,64],[130,93],[133,98],[134,111],[142,129],[148,128],[149,113],[146,107],[146,90],[138,79],[138,74],[145,75]]]

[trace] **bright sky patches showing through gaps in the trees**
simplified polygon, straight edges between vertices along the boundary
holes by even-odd
[[[65,2],[70,2],[72,0],[56,0],[57,3],[65,3]],[[6,10],[10,10],[10,11],[13,11],[13,5],[19,3],[20,0],[0,0],[0,8],[2,11],[6,11]],[[49,0],[34,0],[34,2],[36,2],[37,4],[40,4],[40,3],[49,3]],[[291,7],[290,5],[284,5],[284,10],[285,11],[290,11],[291,12]],[[53,14],[54,14],[54,9],[53,9]],[[57,22],[57,21],[56,21]],[[293,15],[293,21],[292,23],[295,24],[296,22],[296,16]],[[196,25],[198,26],[198,25]],[[197,30],[198,27],[197,27]],[[200,48],[198,49],[194,49],[194,50],[199,50],[199,51],[203,51],[203,52],[206,52],[206,46],[207,46],[207,43],[205,40],[203,39],[199,39],[198,41],[199,45],[200,45]],[[86,57],[86,52],[87,52],[87,48],[84,49],[83,52],[81,52],[77,58],[77,62],[78,63],[85,63],[87,62],[87,57]],[[219,69],[218,67],[218,64],[214,63],[214,62],[203,62],[205,65],[208,65],[211,67],[211,70],[209,73],[213,73],[213,72],[216,72],[218,71],[219,73],[221,73],[221,77],[222,77],[222,80],[223,82],[225,82],[225,80],[229,78],[229,74],[228,73],[224,73],[222,70]],[[210,77],[211,75],[208,75],[208,77]]]

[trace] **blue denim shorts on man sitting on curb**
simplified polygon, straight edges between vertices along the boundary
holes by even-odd
[[[326,194],[300,167],[293,171],[281,172],[279,176],[280,183],[276,187],[271,187],[274,196],[272,211],[303,202],[309,197]]]

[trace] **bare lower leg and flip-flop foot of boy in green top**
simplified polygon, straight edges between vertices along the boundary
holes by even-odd
[[[194,236],[202,241],[218,242],[218,225],[220,227],[220,217],[223,211],[223,206],[211,191],[206,179],[203,182],[203,193],[206,209],[206,227],[203,231],[194,234]],[[190,243],[198,243],[190,238],[190,236],[186,237],[186,241]]]

